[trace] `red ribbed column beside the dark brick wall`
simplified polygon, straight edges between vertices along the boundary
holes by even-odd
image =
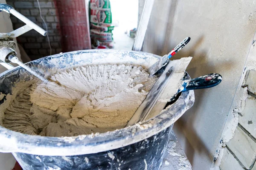
[[[54,0],[60,25],[62,50],[91,49],[88,8],[85,0]]]

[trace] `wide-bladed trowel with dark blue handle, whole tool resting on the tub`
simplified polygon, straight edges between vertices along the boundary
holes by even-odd
[[[157,79],[140,107],[134,113],[127,126],[157,116],[168,102],[174,100],[182,91],[211,88],[218,85],[222,77],[219,74],[207,74],[192,80],[183,81],[184,72],[192,57],[172,60]]]

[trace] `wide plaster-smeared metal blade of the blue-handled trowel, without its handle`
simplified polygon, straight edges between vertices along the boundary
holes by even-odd
[[[150,113],[152,108],[154,108],[157,100],[162,96],[167,84],[172,84],[172,88],[174,88],[173,91],[175,93],[178,91],[180,87],[179,82],[183,78],[184,72],[189,65],[191,59],[192,57],[184,57],[181,59],[172,60],[168,63],[168,65],[166,65],[165,70],[157,79],[157,82],[151,88],[145,100],[134,113],[130,121],[127,123],[126,127],[134,125],[135,123],[140,122],[142,119],[148,116],[148,113]],[[169,83],[170,81],[173,83]],[[169,93],[166,94],[170,95],[169,99],[174,95]]]

